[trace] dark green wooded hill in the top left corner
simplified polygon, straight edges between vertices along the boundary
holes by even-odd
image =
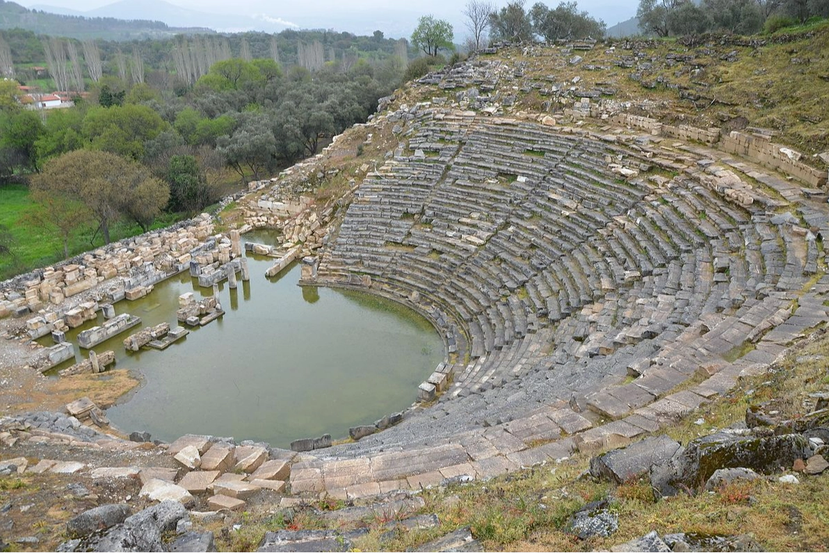
[[[130,21],[114,17],[90,17],[82,12],[51,13],[30,10],[15,2],[0,0],[0,30],[20,28],[37,34],[70,36],[80,40],[104,38],[125,41],[133,38],[159,38],[182,33],[212,32],[207,28],[171,27],[153,21],[148,14]]]

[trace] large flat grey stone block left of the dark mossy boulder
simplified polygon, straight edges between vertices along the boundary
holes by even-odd
[[[623,449],[613,449],[590,459],[590,474],[615,483],[625,483],[647,473],[654,464],[667,461],[680,444],[665,435],[649,437]]]

